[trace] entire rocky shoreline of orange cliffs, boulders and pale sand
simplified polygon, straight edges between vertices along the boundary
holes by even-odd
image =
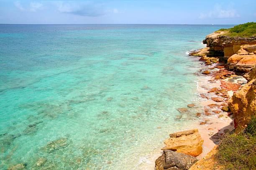
[[[218,152],[219,139],[226,133],[239,133],[256,113],[256,37],[228,37],[215,32],[207,35],[203,43],[206,48],[189,54],[200,57],[206,65],[195,73],[206,77],[198,89],[202,112],[196,113],[202,119],[202,128],[170,134],[164,141],[163,154],[155,161],[156,170],[219,169],[212,157]],[[181,153],[180,157],[169,150]],[[184,159],[185,155],[200,160]],[[170,156],[177,160],[170,163]]]

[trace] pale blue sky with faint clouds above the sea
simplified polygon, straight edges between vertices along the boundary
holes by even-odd
[[[256,0],[0,0],[0,24],[242,24]]]

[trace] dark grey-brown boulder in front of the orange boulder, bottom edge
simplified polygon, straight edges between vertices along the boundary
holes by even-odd
[[[164,153],[156,159],[156,170],[188,170],[197,159],[183,153],[172,150],[164,150]]]

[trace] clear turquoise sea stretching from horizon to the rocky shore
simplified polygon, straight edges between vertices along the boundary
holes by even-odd
[[[0,169],[146,169],[169,133],[198,124],[200,62],[186,52],[230,27],[0,25]]]

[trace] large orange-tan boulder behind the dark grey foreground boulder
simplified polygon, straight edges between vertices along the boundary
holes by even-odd
[[[164,141],[166,147],[161,150],[173,150],[191,156],[198,156],[202,153],[204,140],[197,129],[172,133],[169,136],[170,138]]]

